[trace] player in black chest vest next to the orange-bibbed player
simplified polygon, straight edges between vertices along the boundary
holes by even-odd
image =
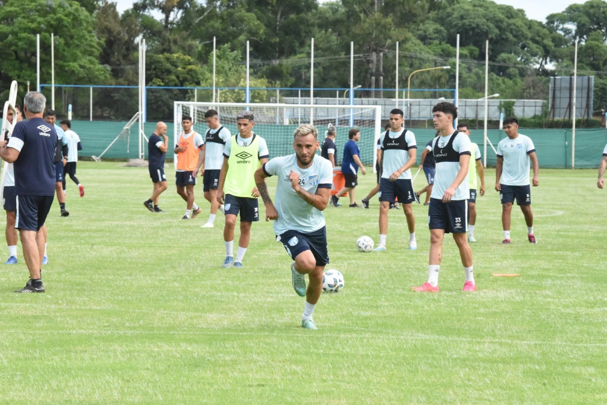
[[[202,167],[194,170],[194,177],[198,175],[198,170],[203,174],[203,191],[206,201],[211,202],[211,214],[203,228],[212,228],[215,222],[217,209],[223,213],[223,204],[217,201],[217,189],[219,188],[219,173],[223,165],[223,147],[232,134],[226,127],[219,123],[219,113],[215,110],[208,110],[205,113],[206,124],[209,130],[205,134],[205,146],[202,148],[203,162]]]

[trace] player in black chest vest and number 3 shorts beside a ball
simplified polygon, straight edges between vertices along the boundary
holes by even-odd
[[[411,166],[417,159],[417,144],[413,132],[402,127],[404,113],[400,109],[390,112],[390,129],[379,138],[381,144],[381,179],[379,180],[379,244],[376,252],[386,250],[388,209],[395,198],[402,204],[409,227],[409,250],[417,249],[415,216],[411,203],[416,199],[411,181]]]

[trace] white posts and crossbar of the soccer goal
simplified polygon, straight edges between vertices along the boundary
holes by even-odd
[[[354,120],[354,112],[356,110],[375,110],[375,129],[373,130],[374,133],[374,137],[373,137],[373,173],[376,172],[375,170],[375,166],[377,164],[377,151],[376,151],[376,145],[378,142],[379,137],[381,136],[381,132],[382,132],[382,125],[381,125],[381,112],[382,112],[382,106],[381,105],[330,105],[330,104],[282,104],[282,103],[261,103],[261,102],[213,102],[213,101],[207,101],[207,102],[195,102],[195,101],[174,101],[173,102],[173,122],[174,122],[174,126],[173,126],[173,145],[177,145],[177,141],[178,141],[178,137],[179,134],[181,133],[181,110],[180,107],[183,105],[188,105],[190,107],[196,107],[196,106],[200,106],[200,107],[213,107],[215,110],[220,110],[221,107],[242,107],[243,110],[247,109],[247,107],[268,107],[268,108],[282,108],[282,109],[342,109],[342,110],[350,110],[350,127],[353,127],[353,120]],[[313,115],[311,115],[311,118],[313,120]],[[192,119],[195,119],[192,117]],[[302,122],[305,124],[305,122]],[[319,130],[319,142],[322,142],[322,139],[320,139],[320,137],[322,136],[322,129],[318,128]],[[275,156],[276,157],[276,156]],[[175,168],[177,168],[177,154],[173,154],[173,162],[174,162],[174,166]]]

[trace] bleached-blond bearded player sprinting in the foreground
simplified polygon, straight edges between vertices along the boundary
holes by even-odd
[[[322,292],[322,277],[329,263],[327,232],[322,211],[327,207],[333,182],[333,165],[322,156],[318,132],[303,124],[294,132],[294,155],[274,158],[255,172],[257,189],[266,207],[266,221],[274,220],[274,233],[294,260],[293,288],[306,296],[302,327],[317,329],[312,315]],[[276,175],[278,183],[272,203],[265,178]],[[308,287],[305,284],[308,275]]]

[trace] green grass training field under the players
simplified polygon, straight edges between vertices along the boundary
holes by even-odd
[[[607,402],[607,206],[595,170],[541,170],[539,243],[527,243],[517,209],[510,246],[488,170],[476,293],[461,292],[450,237],[441,292],[410,291],[427,278],[427,207],[413,207],[418,250],[391,210],[388,251],[366,254],[355,241],[378,241],[377,198],[369,210],[327,207],[328,268],[345,289],[321,296],[317,331],[299,327],[304,298],[271,224],[254,224],[244,269],[223,270],[223,216],[200,228],[199,184],[204,212],[181,221],[167,172],[168,213],[154,214],[142,205],[146,168],[79,163],[86,196],[69,182],[71,215],[55,201],[47,220],[46,294],[12,292],[27,281],[21,244],[18,265],[0,264],[0,403]],[[374,182],[361,176],[358,200]],[[521,276],[491,276],[510,272]]]

